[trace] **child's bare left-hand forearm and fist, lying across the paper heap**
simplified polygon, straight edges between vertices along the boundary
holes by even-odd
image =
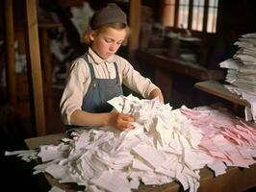
[[[131,115],[109,112],[91,113],[77,109],[70,116],[70,123],[77,126],[112,126],[119,131],[133,128],[134,118]]]

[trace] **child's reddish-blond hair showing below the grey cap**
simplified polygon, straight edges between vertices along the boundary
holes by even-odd
[[[85,33],[84,33],[84,36],[82,38],[82,42],[85,43],[85,44],[91,44],[91,40],[90,40],[90,33],[92,31],[94,31],[97,35],[104,32],[107,28],[113,28],[115,30],[122,30],[122,29],[126,29],[126,36],[125,36],[125,39],[122,41],[122,44],[123,46],[127,45],[127,41],[128,41],[128,36],[130,35],[130,28],[126,25],[126,24],[123,24],[123,23],[109,23],[109,24],[105,24],[105,25],[102,25],[94,30],[92,30],[91,28],[89,28],[89,30],[87,30]]]

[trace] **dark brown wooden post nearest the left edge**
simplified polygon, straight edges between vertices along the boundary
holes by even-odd
[[[15,78],[15,51],[13,29],[13,0],[5,1],[5,26],[6,26],[6,61],[7,61],[7,84],[10,104],[15,108],[17,105],[16,78]]]

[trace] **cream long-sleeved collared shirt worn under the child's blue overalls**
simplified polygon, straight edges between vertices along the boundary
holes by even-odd
[[[141,76],[128,60],[117,55],[103,60],[89,48],[88,59],[92,63],[95,78],[115,79],[114,62],[116,62],[121,84],[125,84],[131,90],[140,93],[144,98],[149,98],[150,92],[158,88],[148,78]],[[73,111],[82,109],[83,99],[87,94],[90,81],[90,67],[87,61],[82,58],[74,60],[68,71],[60,104],[65,125],[70,125],[70,115]]]

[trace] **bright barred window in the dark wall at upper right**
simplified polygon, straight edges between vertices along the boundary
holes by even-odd
[[[218,0],[165,0],[163,24],[216,33]]]

